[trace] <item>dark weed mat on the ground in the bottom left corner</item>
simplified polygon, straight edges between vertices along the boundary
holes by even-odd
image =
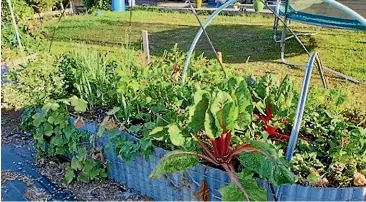
[[[3,201],[77,200],[71,192],[41,175],[35,165],[34,152],[23,147],[3,144],[1,147],[1,194]]]

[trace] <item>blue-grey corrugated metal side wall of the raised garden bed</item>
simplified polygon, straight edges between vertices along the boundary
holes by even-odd
[[[71,122],[75,118],[71,118]],[[81,130],[90,134],[96,134],[98,125],[86,122]],[[121,137],[128,140],[137,140],[128,133],[120,132]],[[97,141],[97,144],[106,147],[110,143],[108,133]],[[119,183],[127,184],[129,188],[145,194],[154,200],[164,201],[197,201],[198,192],[204,179],[207,180],[209,196],[212,201],[220,201],[220,187],[229,183],[227,174],[219,169],[203,164],[188,170],[184,173],[168,175],[165,179],[151,179],[149,175],[160,159],[167,153],[162,148],[155,148],[149,159],[142,156],[135,156],[129,162],[124,162],[116,156],[113,149],[106,151],[105,158],[108,159],[108,177]],[[306,187],[300,185],[284,185],[271,188],[265,181],[260,181],[262,187],[268,190],[268,200],[280,201],[365,201],[366,187],[349,188],[323,188]]]

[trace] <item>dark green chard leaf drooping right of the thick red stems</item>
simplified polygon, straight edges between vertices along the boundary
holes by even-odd
[[[261,178],[268,179],[275,185],[295,182],[288,163],[279,157],[276,148],[259,141],[251,141],[250,144],[261,152],[241,153],[239,160],[243,166],[256,172]]]

